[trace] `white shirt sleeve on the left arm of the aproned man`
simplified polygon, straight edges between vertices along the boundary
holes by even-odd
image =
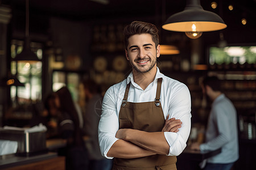
[[[117,133],[119,123],[113,94],[113,88],[110,87],[102,101],[102,114],[98,125],[98,140],[101,154],[108,159],[113,159],[113,157],[108,157],[107,154],[110,147],[118,140],[115,138],[115,134]]]

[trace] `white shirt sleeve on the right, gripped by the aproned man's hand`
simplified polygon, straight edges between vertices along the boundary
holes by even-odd
[[[168,156],[177,156],[187,146],[186,142],[191,130],[191,96],[187,86],[180,84],[172,89],[168,114],[169,118],[180,119],[181,128],[177,133],[165,132],[164,137],[170,146]]]

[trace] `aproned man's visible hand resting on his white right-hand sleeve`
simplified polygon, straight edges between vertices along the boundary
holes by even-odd
[[[164,127],[162,131],[170,131],[170,132],[175,132],[177,133],[179,131],[179,128],[181,128],[182,122],[179,119],[175,118],[169,118],[169,114],[166,117],[166,123],[164,124]]]

